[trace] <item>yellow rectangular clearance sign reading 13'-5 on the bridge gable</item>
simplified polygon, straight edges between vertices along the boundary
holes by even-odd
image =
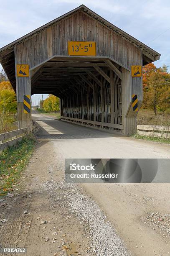
[[[96,56],[96,42],[68,41],[68,54],[74,56]]]

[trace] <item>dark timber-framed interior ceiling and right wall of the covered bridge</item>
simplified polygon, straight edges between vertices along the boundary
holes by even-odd
[[[31,69],[31,92],[59,97],[61,120],[121,132],[121,72],[109,58],[54,56]]]

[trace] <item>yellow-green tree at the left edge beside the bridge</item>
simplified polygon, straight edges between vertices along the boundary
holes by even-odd
[[[0,90],[0,128],[1,131],[7,123],[12,123],[11,114],[17,112],[16,95],[13,90]]]

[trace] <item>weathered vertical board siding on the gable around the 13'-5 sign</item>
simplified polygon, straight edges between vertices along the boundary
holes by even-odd
[[[96,56],[110,56],[129,69],[142,65],[139,47],[81,11],[16,45],[15,53],[32,68],[51,55],[68,55],[68,41],[96,41]]]

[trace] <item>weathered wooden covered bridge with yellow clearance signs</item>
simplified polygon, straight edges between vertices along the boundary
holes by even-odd
[[[157,59],[84,5],[0,49],[17,94],[18,128],[31,121],[31,95],[50,93],[60,98],[61,120],[130,134],[142,103],[142,66]]]

